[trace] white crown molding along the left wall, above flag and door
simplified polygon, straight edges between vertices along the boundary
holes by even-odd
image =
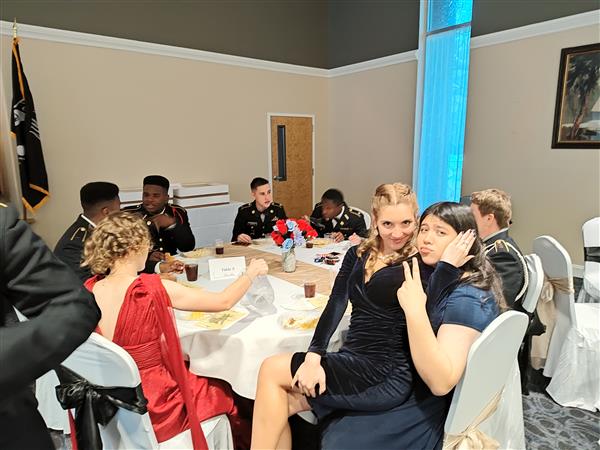
[[[0,34],[12,36],[12,22],[0,21]],[[191,48],[175,47],[172,45],[155,44],[151,42],[135,41],[98,34],[80,33],[78,31],[59,30],[56,28],[38,27],[36,25],[18,24],[20,38],[40,39],[45,41],[60,42],[64,44],[85,45],[88,47],[124,50],[150,55],[170,56],[173,58],[191,59],[216,64],[247,67],[251,69],[271,70],[286,72],[295,75],[309,75],[327,77],[327,69],[316,67],[298,66],[262,59],[246,58],[244,56],[226,55],[223,53],[207,52]]]

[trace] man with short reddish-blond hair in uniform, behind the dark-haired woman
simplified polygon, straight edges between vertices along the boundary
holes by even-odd
[[[502,291],[507,305],[516,311],[526,313],[530,318],[518,356],[521,390],[524,395],[527,395],[531,338],[543,334],[546,327],[540,321],[536,311],[533,314],[529,313],[521,304],[528,287],[527,263],[519,246],[508,234],[512,223],[510,196],[499,189],[473,192],[471,210],[477,222],[479,236],[486,246],[487,257],[502,279]]]

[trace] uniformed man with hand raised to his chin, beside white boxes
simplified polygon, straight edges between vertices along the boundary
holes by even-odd
[[[178,251],[187,252],[193,250],[196,244],[185,209],[169,204],[169,180],[161,175],[149,175],[144,178],[142,203],[129,206],[124,211],[140,214],[152,236],[153,246],[148,254],[144,272],[183,270],[183,265],[177,264],[177,261],[163,262],[165,253],[174,255]]]

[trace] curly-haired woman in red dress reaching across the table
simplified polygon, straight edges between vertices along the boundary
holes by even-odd
[[[83,264],[94,277],[86,282],[102,318],[98,331],[135,360],[158,442],[190,429],[194,448],[205,448],[200,421],[227,414],[236,447],[247,448],[249,425],[234,404],[230,386],[199,377],[184,365],[172,308],[224,311],[240,300],[253,279],[267,273],[264,260],[252,260],[246,273],[222,292],[187,288],[159,275],[141,274],[150,248],[148,227],[132,213],[103,219],[84,248]]]

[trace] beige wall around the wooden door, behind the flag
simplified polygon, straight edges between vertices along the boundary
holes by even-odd
[[[11,92],[6,36],[1,50]],[[252,177],[268,175],[268,112],[314,114],[317,177],[327,170],[326,78],[35,39],[22,40],[21,56],[52,193],[34,228],[51,246],[92,180],[137,187],[160,173],[226,182],[246,200]]]

